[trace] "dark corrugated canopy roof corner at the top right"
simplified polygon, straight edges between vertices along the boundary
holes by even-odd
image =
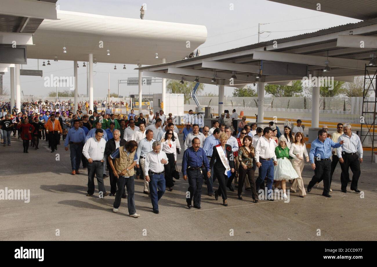
[[[320,3],[320,11],[340,15],[359,20],[368,20],[377,17],[377,1],[375,0],[268,0],[300,8],[317,10]]]

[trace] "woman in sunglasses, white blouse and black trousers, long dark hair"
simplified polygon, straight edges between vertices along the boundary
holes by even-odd
[[[161,149],[163,152],[166,153],[166,156],[169,160],[169,163],[164,165],[165,167],[165,182],[166,187],[169,188],[169,191],[173,190],[173,167],[174,164],[177,162],[177,150],[176,150],[176,143],[174,132],[172,130],[167,130],[165,133],[164,139],[161,140]]]

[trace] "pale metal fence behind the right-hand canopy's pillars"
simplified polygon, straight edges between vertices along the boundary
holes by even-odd
[[[200,105],[211,106],[212,112],[218,113],[219,97],[197,96]],[[367,101],[374,101],[374,97],[367,97]],[[258,113],[257,97],[225,97],[224,109],[230,112],[236,109],[239,114],[244,111],[246,116],[255,116]],[[333,122],[360,123],[362,114],[362,97],[321,97],[319,120]],[[187,107],[186,107],[187,106]],[[190,99],[190,105],[185,105],[185,110],[195,110],[195,103]],[[291,118],[297,120],[311,120],[311,97],[265,97],[264,116]],[[368,111],[374,111],[372,105]],[[366,123],[371,123],[373,114],[365,118]]]

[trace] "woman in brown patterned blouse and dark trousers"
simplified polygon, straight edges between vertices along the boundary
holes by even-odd
[[[254,180],[254,147],[252,146],[252,138],[250,136],[244,137],[244,145],[238,150],[239,177],[238,177],[238,198],[242,199],[242,187],[247,175],[251,187],[251,193],[254,202],[258,202],[256,198],[255,180]]]

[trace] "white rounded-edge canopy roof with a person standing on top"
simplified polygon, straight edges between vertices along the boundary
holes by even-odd
[[[162,58],[182,59],[207,39],[207,29],[200,25],[59,10],[57,18],[41,23],[33,35],[35,46],[28,46],[28,58],[88,61],[92,53],[97,62],[150,65]]]

